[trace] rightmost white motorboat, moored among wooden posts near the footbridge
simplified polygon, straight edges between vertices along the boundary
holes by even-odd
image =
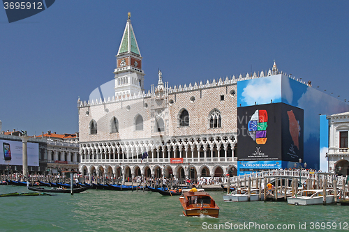
[[[295,196],[288,197],[290,205],[320,205],[323,203],[323,190],[301,190]],[[334,190],[326,190],[326,203],[334,203]]]

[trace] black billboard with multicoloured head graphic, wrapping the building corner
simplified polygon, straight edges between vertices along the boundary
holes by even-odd
[[[239,161],[303,160],[303,109],[285,103],[239,107]]]

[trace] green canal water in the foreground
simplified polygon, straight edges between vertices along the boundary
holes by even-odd
[[[29,191],[0,186],[0,194],[10,192]],[[225,203],[223,192],[210,194],[221,208],[218,219],[184,217],[178,196],[152,192],[88,190],[73,196],[2,197],[0,231],[349,231],[348,206]],[[278,224],[283,227],[277,229]]]

